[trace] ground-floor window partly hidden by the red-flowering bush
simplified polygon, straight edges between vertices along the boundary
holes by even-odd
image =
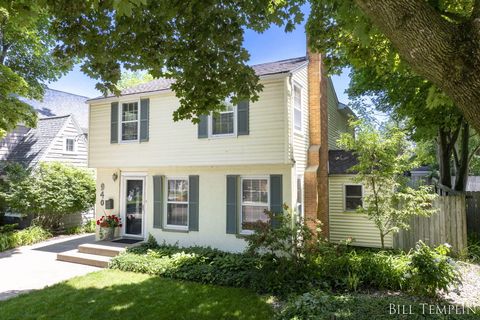
[[[252,230],[258,221],[268,221],[269,207],[267,178],[242,178],[242,230]]]

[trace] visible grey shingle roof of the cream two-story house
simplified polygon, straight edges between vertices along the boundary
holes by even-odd
[[[257,74],[257,76],[267,76],[274,74],[282,74],[293,71],[302,65],[306,64],[307,57],[292,58],[286,60],[280,60],[275,62],[268,62],[262,64],[253,65],[252,68]],[[142,83],[127,89],[122,90],[122,96],[137,94],[137,93],[146,93],[146,92],[155,92],[155,91],[164,91],[170,89],[170,85],[173,83],[172,79],[156,79],[147,83]],[[108,97],[113,97],[114,95],[100,96],[89,101],[100,100]]]

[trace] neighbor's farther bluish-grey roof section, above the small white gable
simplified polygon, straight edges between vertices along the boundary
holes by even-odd
[[[73,93],[46,89],[42,101],[20,98],[31,105],[39,118],[67,116],[73,114],[82,129],[88,128],[88,97]]]

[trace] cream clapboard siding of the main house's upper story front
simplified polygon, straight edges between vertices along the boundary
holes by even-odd
[[[250,134],[238,137],[199,139],[197,125],[190,120],[173,121],[172,113],[179,102],[173,93],[166,92],[142,97],[150,98],[148,142],[111,144],[110,102],[91,104],[89,166],[285,164],[289,161],[285,81],[286,77],[262,82],[260,99],[250,102]],[[119,102],[129,99],[128,96],[120,97]]]

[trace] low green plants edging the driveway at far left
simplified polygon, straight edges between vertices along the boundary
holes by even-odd
[[[0,252],[20,246],[34,244],[52,237],[42,227],[33,226],[19,231],[0,233]]]

